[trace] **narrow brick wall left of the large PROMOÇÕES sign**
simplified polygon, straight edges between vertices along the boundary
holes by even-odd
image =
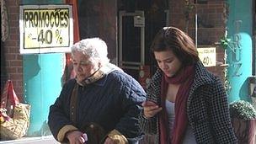
[[[19,99],[22,100],[23,58],[19,54],[19,0],[5,0],[5,2],[8,10],[9,29],[8,39],[3,43],[6,58],[6,79],[13,81],[14,90]]]

